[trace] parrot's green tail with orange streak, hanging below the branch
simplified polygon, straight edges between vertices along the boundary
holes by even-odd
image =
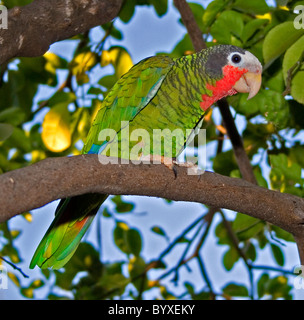
[[[30,268],[60,269],[76,251],[82,237],[108,195],[85,194],[62,199],[55,219],[37,247]]]

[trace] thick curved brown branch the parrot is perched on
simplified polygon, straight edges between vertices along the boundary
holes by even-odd
[[[105,159],[105,158],[103,158]],[[160,164],[101,164],[97,155],[49,158],[0,176],[0,221],[84,193],[147,195],[204,203],[303,233],[304,199],[212,172],[187,175]]]

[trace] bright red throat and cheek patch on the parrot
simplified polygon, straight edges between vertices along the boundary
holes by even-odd
[[[247,71],[247,69],[239,69],[231,65],[225,66],[223,68],[224,77],[218,80],[215,86],[212,86],[209,83],[207,83],[206,88],[212,91],[212,95],[202,95],[202,102],[200,103],[201,108],[204,111],[206,111],[209,107],[213,105],[214,102],[226,96],[232,96],[236,94],[237,91],[232,87]]]

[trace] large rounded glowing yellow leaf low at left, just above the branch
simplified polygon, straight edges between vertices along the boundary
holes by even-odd
[[[66,104],[54,106],[44,117],[42,141],[52,152],[62,152],[71,145],[70,114]]]

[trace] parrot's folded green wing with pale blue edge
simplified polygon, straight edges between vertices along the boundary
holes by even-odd
[[[98,139],[104,129],[118,132],[121,121],[131,121],[145,108],[160,88],[174,61],[167,56],[156,56],[134,65],[113,86],[97,113],[83,153],[99,153],[107,141]]]

